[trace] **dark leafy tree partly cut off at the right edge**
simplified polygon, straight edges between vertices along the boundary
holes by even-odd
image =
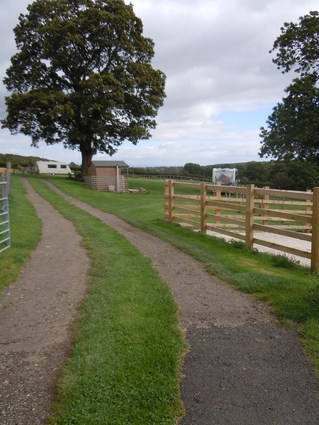
[[[286,88],[287,96],[261,128],[261,156],[319,160],[319,13],[285,23],[271,52],[283,73],[299,76]]]

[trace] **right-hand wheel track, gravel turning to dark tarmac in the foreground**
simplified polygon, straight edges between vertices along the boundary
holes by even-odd
[[[296,332],[169,243],[47,184],[123,234],[170,285],[190,344],[182,425],[318,425],[319,383]]]

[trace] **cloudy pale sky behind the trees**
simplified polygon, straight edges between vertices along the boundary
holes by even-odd
[[[0,0],[0,78],[15,52],[12,29],[30,0]],[[113,159],[131,166],[203,165],[258,160],[259,128],[292,75],[268,53],[284,22],[317,0],[132,0],[144,34],[155,42],[153,65],[167,76],[164,106],[152,139],[125,143]],[[0,118],[6,90],[0,83]],[[39,149],[0,129],[0,152],[80,162],[59,145]],[[97,155],[101,159],[106,155]]]

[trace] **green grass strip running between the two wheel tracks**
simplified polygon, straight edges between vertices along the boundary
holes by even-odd
[[[175,425],[185,347],[166,283],[124,237],[32,184],[74,223],[92,262],[50,424]]]

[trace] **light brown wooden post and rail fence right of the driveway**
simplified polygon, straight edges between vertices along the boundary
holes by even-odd
[[[250,249],[256,244],[307,258],[319,272],[319,187],[301,192],[166,180],[165,219],[240,239]],[[283,242],[263,239],[265,233],[284,236]],[[296,240],[309,249],[296,248]]]

